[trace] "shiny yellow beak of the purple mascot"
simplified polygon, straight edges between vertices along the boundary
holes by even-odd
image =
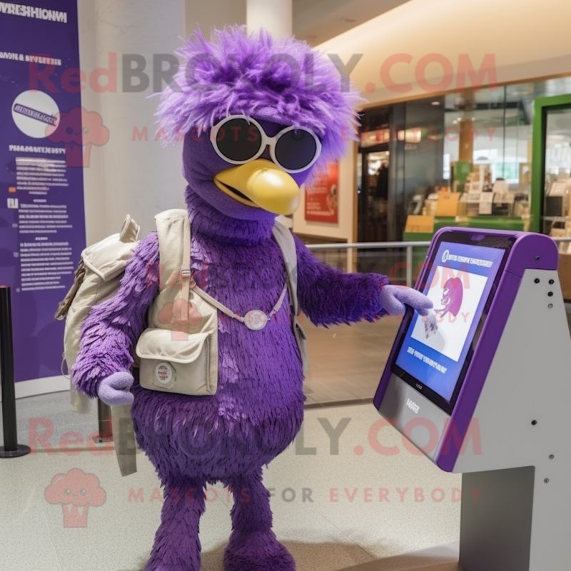
[[[234,200],[276,214],[293,214],[300,203],[300,188],[279,166],[265,158],[226,168],[214,184]]]

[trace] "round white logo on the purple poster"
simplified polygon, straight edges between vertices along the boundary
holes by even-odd
[[[12,103],[12,118],[24,135],[45,138],[59,124],[59,107],[44,91],[23,91]]]

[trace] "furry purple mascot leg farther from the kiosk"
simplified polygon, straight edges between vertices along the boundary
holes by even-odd
[[[204,507],[204,482],[166,480],[161,525],[145,571],[200,570],[198,522]]]

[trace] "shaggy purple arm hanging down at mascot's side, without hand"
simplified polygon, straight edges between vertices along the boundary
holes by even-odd
[[[143,238],[116,295],[96,305],[81,328],[79,355],[71,368],[74,387],[97,396],[98,383],[131,369],[131,351],[146,328],[148,308],[158,292],[158,238]]]

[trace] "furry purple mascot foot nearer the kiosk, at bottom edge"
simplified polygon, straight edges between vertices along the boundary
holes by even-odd
[[[295,562],[273,532],[232,535],[224,553],[225,571],[295,571]]]

